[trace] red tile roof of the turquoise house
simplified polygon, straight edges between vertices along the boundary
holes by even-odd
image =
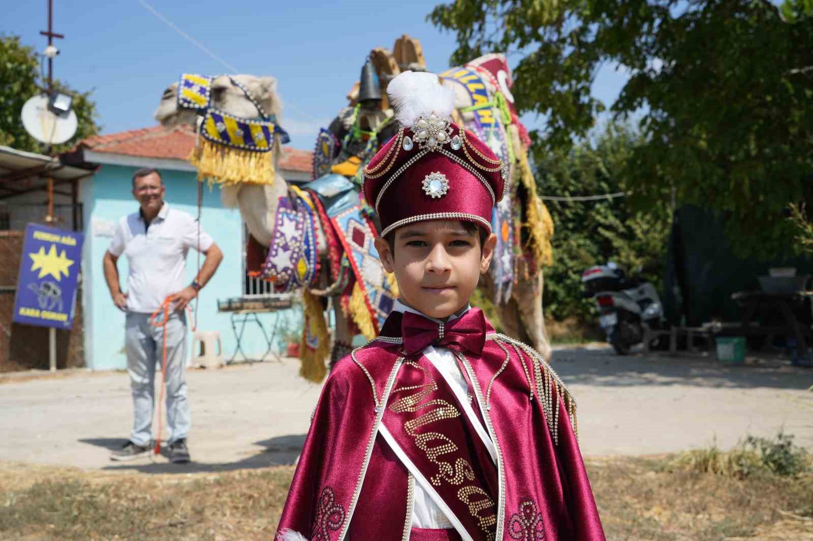
[[[89,149],[98,153],[186,160],[194,145],[195,133],[191,128],[165,129],[162,126],[154,126],[89,137],[80,141],[76,146],[77,149]],[[313,153],[311,151],[283,147],[280,169],[310,173],[312,164]]]

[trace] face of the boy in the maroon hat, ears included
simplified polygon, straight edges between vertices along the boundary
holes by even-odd
[[[480,248],[479,233],[468,233],[453,220],[399,227],[394,251],[385,239],[376,239],[381,263],[395,273],[402,301],[437,319],[468,304],[480,275],[489,270],[496,244],[492,234]]]

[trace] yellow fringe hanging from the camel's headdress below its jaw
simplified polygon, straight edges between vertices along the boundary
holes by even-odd
[[[216,145],[202,137],[189,163],[198,170],[198,180],[217,184],[273,184],[274,151],[250,152]]]

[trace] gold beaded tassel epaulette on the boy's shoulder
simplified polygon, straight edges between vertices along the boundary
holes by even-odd
[[[511,344],[511,347],[515,348],[515,350],[517,348],[522,349],[533,362],[533,382],[530,380],[530,374],[526,371],[526,376],[529,379],[528,384],[533,389],[536,389],[537,398],[541,401],[542,411],[545,413],[548,430],[550,435],[553,436],[554,444],[559,444],[559,399],[564,404],[567,417],[570,418],[570,424],[576,434],[576,440],[578,440],[579,423],[576,419],[576,398],[567,390],[559,374],[556,374],[555,370],[545,361],[545,357],[542,357],[528,344],[523,344],[520,340],[514,340],[510,336],[500,334],[497,335],[497,339],[506,344]],[[518,350],[516,353],[520,355]],[[520,360],[521,358],[520,355]]]

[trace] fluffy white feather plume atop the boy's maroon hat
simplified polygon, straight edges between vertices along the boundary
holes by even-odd
[[[427,71],[404,71],[389,81],[387,94],[397,111],[395,118],[405,128],[432,113],[448,119],[454,110],[454,90],[441,85],[438,76]]]

